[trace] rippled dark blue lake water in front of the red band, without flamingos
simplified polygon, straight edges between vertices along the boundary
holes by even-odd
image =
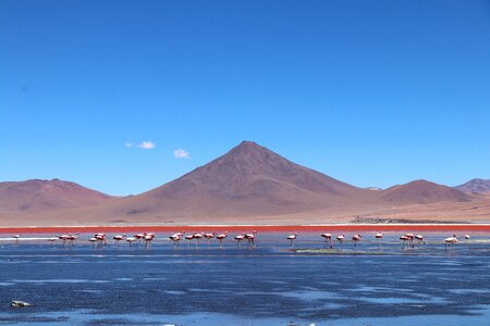
[[[280,234],[258,235],[256,248],[7,238],[0,324],[488,325],[490,235],[449,250],[448,235],[407,249],[400,235],[379,248],[372,236],[324,250],[318,234],[302,234],[295,251]],[[11,309],[14,299],[34,306]]]

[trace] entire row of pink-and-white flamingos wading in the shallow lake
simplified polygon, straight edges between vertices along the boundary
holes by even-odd
[[[229,234],[228,231],[223,231],[223,233],[193,231],[193,233],[189,233],[186,235],[185,231],[179,231],[179,233],[175,233],[175,234],[169,236],[168,239],[173,242],[174,248],[177,248],[180,246],[180,242],[183,239],[187,240],[188,246],[191,246],[194,242],[196,248],[199,246],[199,242],[203,239],[207,240],[208,246],[211,246],[212,240],[216,239],[219,242],[219,247],[222,248],[223,241],[228,238],[228,234]],[[241,248],[241,243],[244,240],[247,241],[247,247],[255,248],[256,235],[257,235],[256,230],[252,230],[248,233],[241,233],[241,234],[235,235],[233,237],[233,240],[236,242],[236,246],[238,247],[238,249]],[[291,248],[294,247],[294,242],[296,241],[297,237],[298,237],[297,233],[289,234],[286,236],[285,239],[290,242],[289,244]],[[334,247],[334,239],[336,240],[336,242],[339,243],[341,249],[342,249],[344,241],[346,240],[345,235],[339,235],[339,236],[334,237],[334,236],[332,236],[332,234],[329,234],[329,233],[323,233],[320,235],[320,237],[323,239],[324,248],[327,248],[327,246],[328,246],[330,249],[333,249],[333,247]],[[22,239],[22,236],[14,235],[14,236],[12,236],[12,238],[15,240],[16,243],[19,243],[20,240]],[[151,247],[151,243],[155,240],[155,238],[156,238],[156,235],[154,233],[147,233],[147,231],[137,233],[137,234],[133,235],[132,237],[127,237],[125,234],[112,236],[112,240],[113,240],[114,244],[119,244],[121,241],[125,241],[131,247],[133,242],[140,243],[140,242],[145,241],[146,248]],[[381,242],[383,240],[383,234],[377,233],[377,234],[375,234],[373,238],[378,244],[378,249],[380,249]],[[77,239],[78,239],[78,234],[63,234],[63,235],[59,235],[56,237],[46,238],[46,240],[48,242],[50,242],[51,246],[53,244],[53,242],[61,240],[63,242],[63,247],[73,247],[73,243]],[[354,250],[357,249],[357,246],[362,241],[362,239],[363,239],[363,235],[360,235],[360,234],[355,234],[351,237],[352,243],[354,246]],[[402,236],[400,236],[399,239],[402,241],[402,249],[415,249],[415,248],[426,244],[426,240],[422,235],[414,235],[412,233],[407,233],[407,234],[403,234]],[[464,235],[464,239],[469,240],[470,236]],[[100,248],[102,246],[108,244],[108,237],[105,233],[98,233],[98,234],[95,234],[94,236],[89,237],[88,241],[93,244],[94,248],[96,246],[98,248]],[[442,242],[444,243],[446,250],[451,250],[454,248],[454,244],[460,242],[460,237],[457,235],[453,235],[449,238],[443,239]]]

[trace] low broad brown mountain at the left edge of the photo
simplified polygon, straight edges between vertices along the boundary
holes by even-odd
[[[0,183],[0,213],[40,213],[99,204],[110,196],[59,179]]]

